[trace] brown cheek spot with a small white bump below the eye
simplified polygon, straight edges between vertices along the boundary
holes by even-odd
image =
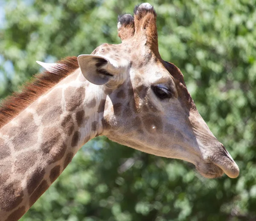
[[[163,123],[162,119],[156,115],[149,114],[142,117],[143,124],[145,126],[145,129],[149,133],[162,132],[163,130]],[[154,128],[153,128],[154,127]]]

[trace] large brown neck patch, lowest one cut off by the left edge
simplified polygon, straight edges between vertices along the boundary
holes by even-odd
[[[23,190],[20,181],[15,180],[9,184],[0,185],[0,209],[11,211],[23,200]]]

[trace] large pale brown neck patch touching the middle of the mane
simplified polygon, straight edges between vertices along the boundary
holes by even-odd
[[[36,111],[39,116],[42,116],[43,125],[54,124],[59,120],[62,111],[61,108],[62,89],[57,88],[50,94],[50,97],[44,98],[38,104]]]

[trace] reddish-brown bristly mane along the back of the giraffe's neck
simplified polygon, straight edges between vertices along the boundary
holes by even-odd
[[[58,61],[52,70],[34,75],[22,86],[20,93],[14,92],[0,103],[0,128],[77,68],[77,57],[67,57]]]

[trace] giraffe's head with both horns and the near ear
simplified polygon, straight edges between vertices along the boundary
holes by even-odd
[[[119,16],[119,45],[78,57],[81,73],[105,93],[99,134],[137,150],[195,164],[201,175],[239,175],[239,168],[197,111],[183,75],[158,52],[149,3]],[[48,67],[49,68],[49,67]]]

